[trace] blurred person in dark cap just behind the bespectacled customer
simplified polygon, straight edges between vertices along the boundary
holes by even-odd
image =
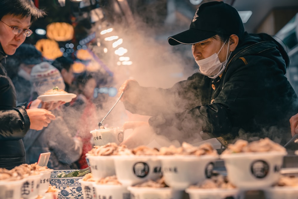
[[[13,85],[17,95],[17,104],[24,104],[29,101],[31,93],[30,72],[32,67],[42,62],[41,52],[32,44],[22,44],[15,51],[15,54],[8,56],[18,60],[18,75],[13,77]]]

